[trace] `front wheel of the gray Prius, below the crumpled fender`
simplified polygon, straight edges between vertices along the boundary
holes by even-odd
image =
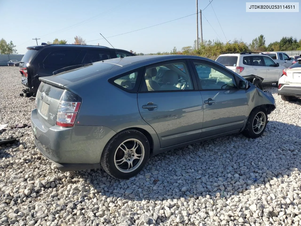
[[[268,122],[268,115],[263,108],[255,108],[251,111],[247,125],[243,131],[246,137],[257,138],[265,131]]]

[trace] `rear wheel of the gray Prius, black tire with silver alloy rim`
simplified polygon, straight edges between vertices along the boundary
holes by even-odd
[[[129,179],[141,171],[149,154],[150,145],[144,134],[125,130],[107,143],[101,155],[101,166],[112,177]]]

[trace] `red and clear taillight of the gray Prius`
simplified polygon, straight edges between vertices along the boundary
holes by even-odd
[[[81,98],[79,96],[65,90],[58,104],[56,125],[73,127],[80,104]]]

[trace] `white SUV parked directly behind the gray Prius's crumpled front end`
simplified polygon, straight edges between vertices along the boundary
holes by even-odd
[[[263,79],[262,84],[278,84],[282,71],[286,68],[259,52],[225,53],[219,55],[216,61],[242,77],[260,77]]]

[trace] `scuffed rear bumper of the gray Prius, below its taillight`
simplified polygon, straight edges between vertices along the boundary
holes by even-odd
[[[99,168],[102,150],[116,134],[103,126],[48,127],[31,111],[34,142],[39,151],[61,171]]]

